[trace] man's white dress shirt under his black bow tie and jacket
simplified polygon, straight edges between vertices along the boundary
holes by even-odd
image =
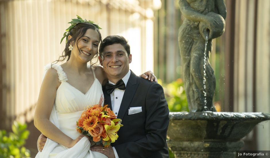
[[[128,73],[122,78],[122,80],[125,83],[125,86],[127,86],[130,74],[131,74],[131,72],[129,70]],[[115,85],[110,80],[109,80],[109,83]],[[118,115],[119,108],[120,108],[124,93],[125,93],[125,90],[121,90],[118,88],[115,88],[114,91],[111,93],[111,108],[112,108],[113,112],[115,113],[115,115]],[[113,147],[113,152],[114,152],[115,158],[119,158],[118,154],[115,150],[115,147]]]

